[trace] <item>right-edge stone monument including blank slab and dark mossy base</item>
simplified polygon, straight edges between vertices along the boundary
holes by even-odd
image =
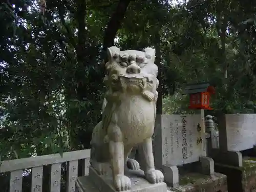
[[[219,146],[209,156],[215,170],[227,176],[229,191],[256,189],[256,114],[218,114]],[[212,133],[211,133],[212,134]]]

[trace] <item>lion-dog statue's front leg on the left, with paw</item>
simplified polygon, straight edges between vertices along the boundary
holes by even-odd
[[[132,184],[130,178],[124,175],[124,146],[120,128],[110,123],[108,135],[114,187],[117,191],[129,190]]]

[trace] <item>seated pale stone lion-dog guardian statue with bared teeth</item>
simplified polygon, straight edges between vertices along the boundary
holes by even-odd
[[[131,180],[124,175],[124,170],[127,164],[139,169],[139,163],[128,158],[132,148],[139,146],[146,180],[163,182],[163,174],[155,169],[152,149],[159,84],[155,50],[120,51],[111,47],[107,51],[109,62],[105,64],[104,83],[108,91],[102,121],[92,135],[91,165],[103,175],[110,164],[116,190],[128,190]]]

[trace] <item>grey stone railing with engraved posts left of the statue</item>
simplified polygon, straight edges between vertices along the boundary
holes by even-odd
[[[81,167],[78,167],[78,160],[81,162]],[[78,176],[78,169],[82,169],[82,176],[88,175],[89,161],[90,150],[63,153],[62,157],[59,154],[54,154],[14,159],[2,161],[0,173],[10,172],[10,192],[22,192],[24,169],[31,169],[32,179],[30,191],[42,192],[43,168],[45,165],[49,165],[51,166],[49,178],[50,190],[47,191],[60,192],[61,163],[68,163],[66,191],[75,192],[75,181]]]

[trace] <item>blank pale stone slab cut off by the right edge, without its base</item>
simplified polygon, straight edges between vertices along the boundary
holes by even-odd
[[[256,144],[256,114],[227,114],[227,148],[242,151]]]

